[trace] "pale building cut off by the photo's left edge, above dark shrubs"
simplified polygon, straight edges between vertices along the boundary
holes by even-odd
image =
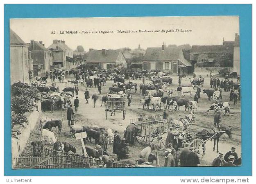
[[[10,29],[11,84],[20,81],[29,84],[29,44]],[[31,61],[31,60],[30,60]]]

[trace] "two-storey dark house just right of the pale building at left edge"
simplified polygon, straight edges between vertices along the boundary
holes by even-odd
[[[50,72],[50,66],[53,65],[52,51],[46,49],[42,41],[30,41],[29,51],[34,61],[34,76]]]

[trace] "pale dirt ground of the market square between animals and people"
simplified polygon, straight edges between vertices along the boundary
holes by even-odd
[[[73,76],[67,76],[67,79],[74,79]],[[177,90],[178,85],[178,77],[172,76],[173,78],[173,86],[170,86],[168,88],[172,88],[173,90]],[[208,89],[210,88],[209,77],[205,77],[204,81],[204,87],[202,89]],[[236,82],[236,79],[233,79],[234,82]],[[125,120],[122,119],[122,113],[116,113],[114,116],[110,116],[110,113],[108,114],[108,119],[106,120],[105,115],[105,106],[104,103],[102,107],[101,105],[101,98],[97,100],[95,108],[93,108],[93,101],[90,99],[89,103],[86,104],[86,100],[84,99],[84,91],[86,88],[86,84],[81,85],[79,84],[79,108],[78,112],[75,114],[75,123],[77,125],[97,125],[105,128],[111,128],[113,130],[118,130],[120,135],[123,135],[124,130],[129,125],[129,119],[138,118],[140,114],[143,116],[149,116],[149,115],[156,115],[156,114],[163,114],[163,107],[164,105],[161,105],[161,111],[153,111],[153,110],[143,110],[142,104],[140,103],[140,99],[142,99],[142,96],[140,94],[139,85],[142,83],[142,80],[135,80],[132,81],[134,83],[138,84],[138,90],[137,93],[135,93],[135,90],[131,90],[133,93],[133,98],[131,101],[131,106],[128,107],[128,100],[126,103],[126,117]],[[149,81],[145,81],[147,83]],[[102,86],[102,94],[100,96],[103,96],[106,94],[106,92],[109,92],[109,87],[113,84],[113,81],[106,81],[106,86]],[[59,86],[59,89],[62,90],[65,86],[64,83],[56,83],[57,86]],[[183,78],[182,85],[190,85],[190,81],[188,78]],[[68,86],[73,86],[73,84],[69,84]],[[88,88],[90,92],[90,97],[94,93],[98,93],[97,88]],[[188,94],[184,98],[188,98],[189,100],[194,99],[195,91],[193,92],[192,96],[190,97]],[[167,96],[166,92],[164,96]],[[178,96],[177,91],[174,91],[173,96]],[[222,92],[223,96],[223,102],[229,102],[229,92]],[[71,100],[73,103],[75,98]],[[209,108],[209,106],[213,103],[213,101],[209,101],[207,99],[207,95],[203,94],[201,92],[201,99],[198,104],[197,108],[197,114],[195,119],[195,125],[190,126],[190,132],[196,132],[199,129],[202,128],[211,128],[213,127],[213,111],[210,111],[209,114],[206,114],[206,110]],[[231,126],[232,127],[232,139],[229,139],[226,134],[222,135],[220,142],[219,142],[219,150],[226,153],[230,150],[231,146],[236,147],[236,152],[240,156],[241,152],[241,129],[240,129],[240,101],[238,101],[238,105],[234,106],[233,102],[230,102],[231,106],[231,112],[229,116],[224,116],[224,113],[222,112],[222,125]],[[185,114],[189,114],[188,112],[184,111],[184,107],[181,106],[179,110],[174,113],[168,112],[169,118],[172,117],[173,119],[179,119],[181,117],[184,117]],[[62,116],[63,114],[63,116]],[[72,144],[72,139],[70,138],[70,128],[68,127],[68,121],[66,120],[67,113],[66,111],[63,111],[61,113],[61,110],[54,111],[53,116],[51,113],[43,112],[41,118],[45,119],[61,119],[63,120],[63,129],[60,135],[58,135],[58,140],[60,141],[66,141]],[[23,152],[23,156],[30,155],[30,141],[39,140],[39,132],[38,132],[38,125],[34,128],[34,130],[31,132],[29,142],[27,143],[27,147]],[[80,140],[73,139],[73,144],[77,147],[77,153],[82,154],[82,145]],[[87,143],[88,144],[88,143]],[[90,145],[90,144],[89,144]],[[131,159],[137,159],[140,150],[145,148],[147,145],[144,144],[136,144],[134,147],[129,147]],[[47,145],[48,148],[52,148],[52,145]],[[112,153],[112,144],[108,145],[109,153]],[[164,163],[164,157],[163,157],[163,151],[158,152],[160,157],[160,165],[163,166]],[[213,141],[207,141],[206,143],[206,155],[201,160],[200,166],[210,166],[213,159],[216,157],[217,152],[215,149],[215,152],[213,152]],[[114,156],[115,157],[115,156]]]

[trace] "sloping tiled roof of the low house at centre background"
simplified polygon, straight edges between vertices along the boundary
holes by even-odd
[[[106,50],[106,54],[102,54],[102,50],[93,50],[88,52],[86,63],[116,62],[120,50]]]

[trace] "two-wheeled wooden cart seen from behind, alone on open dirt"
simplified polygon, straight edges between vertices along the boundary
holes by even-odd
[[[125,119],[125,96],[118,96],[115,94],[114,97],[108,95],[108,100],[106,101],[106,119],[108,119],[108,112],[116,113],[122,112],[122,117]]]

